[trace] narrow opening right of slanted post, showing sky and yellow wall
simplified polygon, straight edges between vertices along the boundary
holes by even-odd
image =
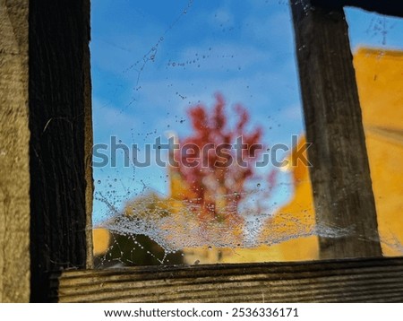
[[[403,20],[347,9],[383,256],[403,254]]]

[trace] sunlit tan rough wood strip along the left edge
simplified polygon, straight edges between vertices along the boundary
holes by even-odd
[[[30,299],[28,0],[0,0],[0,302]]]

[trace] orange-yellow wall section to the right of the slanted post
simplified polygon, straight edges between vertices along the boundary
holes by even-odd
[[[361,48],[358,91],[384,256],[403,255],[403,52]]]

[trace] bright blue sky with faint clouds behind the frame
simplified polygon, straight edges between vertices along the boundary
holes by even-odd
[[[303,132],[292,23],[287,1],[92,1],[91,68],[95,143],[153,143],[168,130],[190,132],[186,109],[228,110],[242,103],[263,143],[290,145]],[[398,19],[347,9],[352,46],[403,48]],[[140,148],[141,149],[141,148]],[[140,153],[143,152],[141,149]],[[118,161],[119,163],[119,161]],[[120,161],[123,164],[123,161]],[[167,194],[167,172],[94,169],[94,222],[144,188]],[[281,174],[273,202],[291,191]]]

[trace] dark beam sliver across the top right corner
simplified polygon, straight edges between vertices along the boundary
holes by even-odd
[[[312,4],[332,9],[355,6],[366,11],[403,18],[403,2],[399,0],[312,0]]]

